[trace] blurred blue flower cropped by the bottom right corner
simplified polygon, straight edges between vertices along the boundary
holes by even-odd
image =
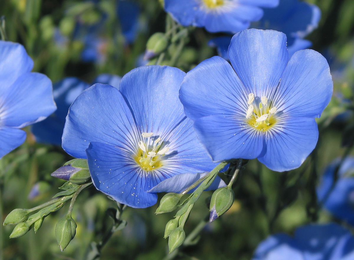
[[[261,242],[252,260],[351,260],[354,237],[335,223],[307,225],[293,237],[279,233]]]

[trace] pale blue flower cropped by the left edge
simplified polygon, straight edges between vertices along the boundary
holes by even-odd
[[[0,158],[26,139],[19,129],[56,110],[52,82],[31,72],[33,61],[21,44],[0,41]]]

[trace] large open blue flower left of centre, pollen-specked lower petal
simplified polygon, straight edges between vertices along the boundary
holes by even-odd
[[[119,90],[95,84],[78,96],[62,146],[72,156],[87,157],[98,190],[145,208],[157,201],[147,191],[164,179],[216,166],[178,100],[184,76],[177,68],[143,66],[127,73]]]

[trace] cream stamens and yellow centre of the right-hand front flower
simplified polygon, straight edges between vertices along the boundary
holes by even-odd
[[[247,123],[255,127],[258,131],[267,131],[276,123],[275,114],[277,109],[275,106],[272,106],[272,101],[269,102],[266,96],[262,96],[259,99],[253,93],[250,93],[247,104],[249,105],[246,110]]]

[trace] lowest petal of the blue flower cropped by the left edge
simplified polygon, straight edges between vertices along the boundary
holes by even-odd
[[[26,139],[26,132],[21,129],[1,127],[0,128],[0,158],[10,153],[13,149],[23,144]]]

